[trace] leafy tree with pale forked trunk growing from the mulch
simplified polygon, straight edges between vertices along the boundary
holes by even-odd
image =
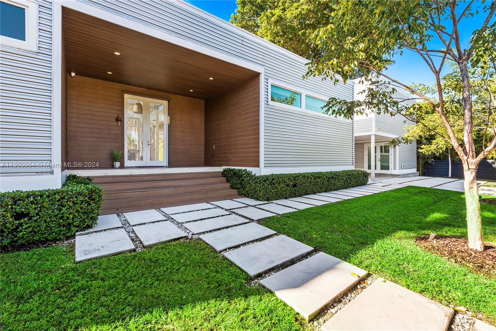
[[[346,81],[354,72],[373,73],[384,78],[376,79],[366,75],[365,80],[371,86],[365,90],[363,101],[346,101],[330,98],[327,105],[332,114],[348,118],[356,113],[363,113],[364,107],[376,113],[388,113],[392,116],[402,115],[421,123],[434,133],[443,136],[458,154],[464,169],[464,189],[467,206],[467,232],[469,247],[484,250],[482,219],[479,205],[477,168],[479,163],[496,148],[496,119],[494,112],[494,94],[486,107],[474,108],[478,102],[473,98],[476,89],[482,88],[490,93],[487,86],[474,85],[474,77],[482,77],[487,83],[495,74],[496,59],[496,23],[494,15],[496,1],[462,2],[462,1],[340,1],[334,2],[334,11],[328,25],[318,29],[310,43],[316,45],[317,59],[309,64],[307,75],[322,75],[337,80],[341,75]],[[477,27],[466,44],[460,39],[459,26],[462,20],[481,12],[484,21]],[[443,45],[434,49],[432,41],[436,39]],[[435,98],[399,81],[385,71],[396,55],[413,52],[421,58],[435,77]],[[447,62],[455,64],[458,69],[455,79],[459,82],[459,94],[448,95],[441,82],[441,70]],[[436,132],[432,123],[416,117],[416,107],[405,106],[404,100],[395,98],[396,89],[404,89],[412,94],[412,99],[428,103],[442,121],[447,134]],[[463,118],[461,139],[456,133],[456,123],[450,122],[449,113],[460,106]],[[331,107],[334,106],[334,108]],[[474,114],[485,119],[483,126],[474,122]],[[477,153],[474,130],[482,130],[482,151]]]

